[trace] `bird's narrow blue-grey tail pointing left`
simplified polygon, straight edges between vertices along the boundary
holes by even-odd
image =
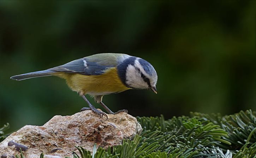
[[[54,73],[56,73],[56,71],[43,70],[43,71],[29,72],[26,74],[12,76],[11,79],[20,81],[20,80],[25,80],[29,78],[35,78],[35,77],[52,76],[52,74]]]

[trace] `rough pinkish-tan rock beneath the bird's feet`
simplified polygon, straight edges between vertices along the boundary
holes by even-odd
[[[137,119],[129,114],[108,114],[106,120],[86,110],[72,116],[54,116],[43,126],[24,126],[0,143],[0,156],[11,158],[19,155],[17,148],[22,148],[26,158],[39,158],[41,153],[48,158],[73,157],[72,151],[78,153],[75,146],[92,151],[96,143],[107,148],[141,131]]]

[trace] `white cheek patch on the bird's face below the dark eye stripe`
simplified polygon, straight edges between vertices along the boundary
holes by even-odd
[[[126,69],[126,84],[130,85],[132,88],[148,88],[148,84],[141,77],[141,73],[132,65],[128,65]]]

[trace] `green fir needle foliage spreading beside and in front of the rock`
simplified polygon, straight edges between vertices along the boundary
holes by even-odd
[[[93,153],[79,146],[73,158],[256,158],[256,113],[251,110],[229,116],[191,113],[169,120],[137,119],[143,131],[132,140],[107,150],[95,144]]]

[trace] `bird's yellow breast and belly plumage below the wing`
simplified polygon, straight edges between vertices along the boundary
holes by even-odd
[[[101,75],[81,75],[60,72],[55,76],[65,78],[67,85],[73,90],[89,95],[119,93],[127,88],[117,74],[117,68],[109,68]]]

